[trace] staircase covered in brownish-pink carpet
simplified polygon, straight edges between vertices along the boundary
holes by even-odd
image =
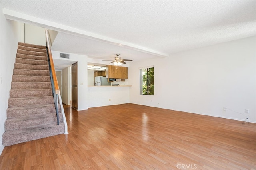
[[[3,146],[63,134],[62,113],[59,120],[57,125],[46,47],[18,43]]]

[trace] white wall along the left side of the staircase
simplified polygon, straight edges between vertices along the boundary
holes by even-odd
[[[1,4],[0,4],[1,5]],[[8,108],[9,92],[11,89],[12,73],[16,58],[18,41],[21,36],[21,23],[6,20],[2,7],[0,6],[0,154],[2,146],[2,134],[4,133],[4,122],[6,120],[6,109]]]

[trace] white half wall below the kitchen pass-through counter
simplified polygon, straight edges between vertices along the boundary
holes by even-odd
[[[128,86],[88,87],[88,107],[129,103],[129,88]]]

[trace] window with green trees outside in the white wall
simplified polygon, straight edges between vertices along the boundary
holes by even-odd
[[[140,94],[154,95],[154,66],[140,69]]]

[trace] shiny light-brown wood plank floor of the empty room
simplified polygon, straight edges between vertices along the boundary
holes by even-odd
[[[124,104],[75,111],[69,134],[5,147],[1,170],[256,168],[256,124]]]

